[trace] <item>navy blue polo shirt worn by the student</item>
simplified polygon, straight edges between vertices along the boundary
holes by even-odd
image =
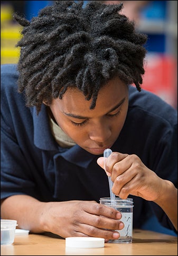
[[[96,200],[109,197],[108,178],[97,164],[99,156],[78,145],[60,147],[50,130],[45,105],[39,115],[25,106],[17,92],[16,65],[1,66],[1,199],[29,195],[40,201]],[[177,187],[177,111],[158,96],[129,86],[125,124],[113,151],[136,154],[162,179]],[[133,227],[154,213],[174,230],[154,202],[134,199]]]

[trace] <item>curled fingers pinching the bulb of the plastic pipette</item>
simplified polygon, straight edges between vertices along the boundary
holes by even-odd
[[[103,157],[98,158],[98,164],[103,166]],[[129,194],[138,195],[145,181],[145,165],[135,155],[113,152],[105,163],[106,173],[114,182],[112,191],[120,198],[126,199]],[[143,182],[140,182],[140,181]]]

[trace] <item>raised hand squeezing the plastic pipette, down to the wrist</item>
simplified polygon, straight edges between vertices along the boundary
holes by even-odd
[[[97,163],[104,169],[104,157]],[[149,170],[137,155],[113,152],[106,158],[106,172],[114,182],[113,193],[122,199],[128,195],[155,201],[164,192],[165,181]]]

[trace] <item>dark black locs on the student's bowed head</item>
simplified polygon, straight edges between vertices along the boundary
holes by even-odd
[[[93,109],[99,90],[115,76],[141,90],[147,36],[119,14],[122,6],[55,1],[31,21],[14,14],[24,27],[16,45],[18,91],[25,91],[28,107],[39,113],[44,101],[62,99],[69,87],[77,87]]]

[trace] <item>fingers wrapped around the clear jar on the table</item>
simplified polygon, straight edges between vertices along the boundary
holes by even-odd
[[[124,228],[119,211],[95,201],[84,201],[81,207],[72,220],[72,236],[103,237],[105,241],[119,238],[119,230]]]

